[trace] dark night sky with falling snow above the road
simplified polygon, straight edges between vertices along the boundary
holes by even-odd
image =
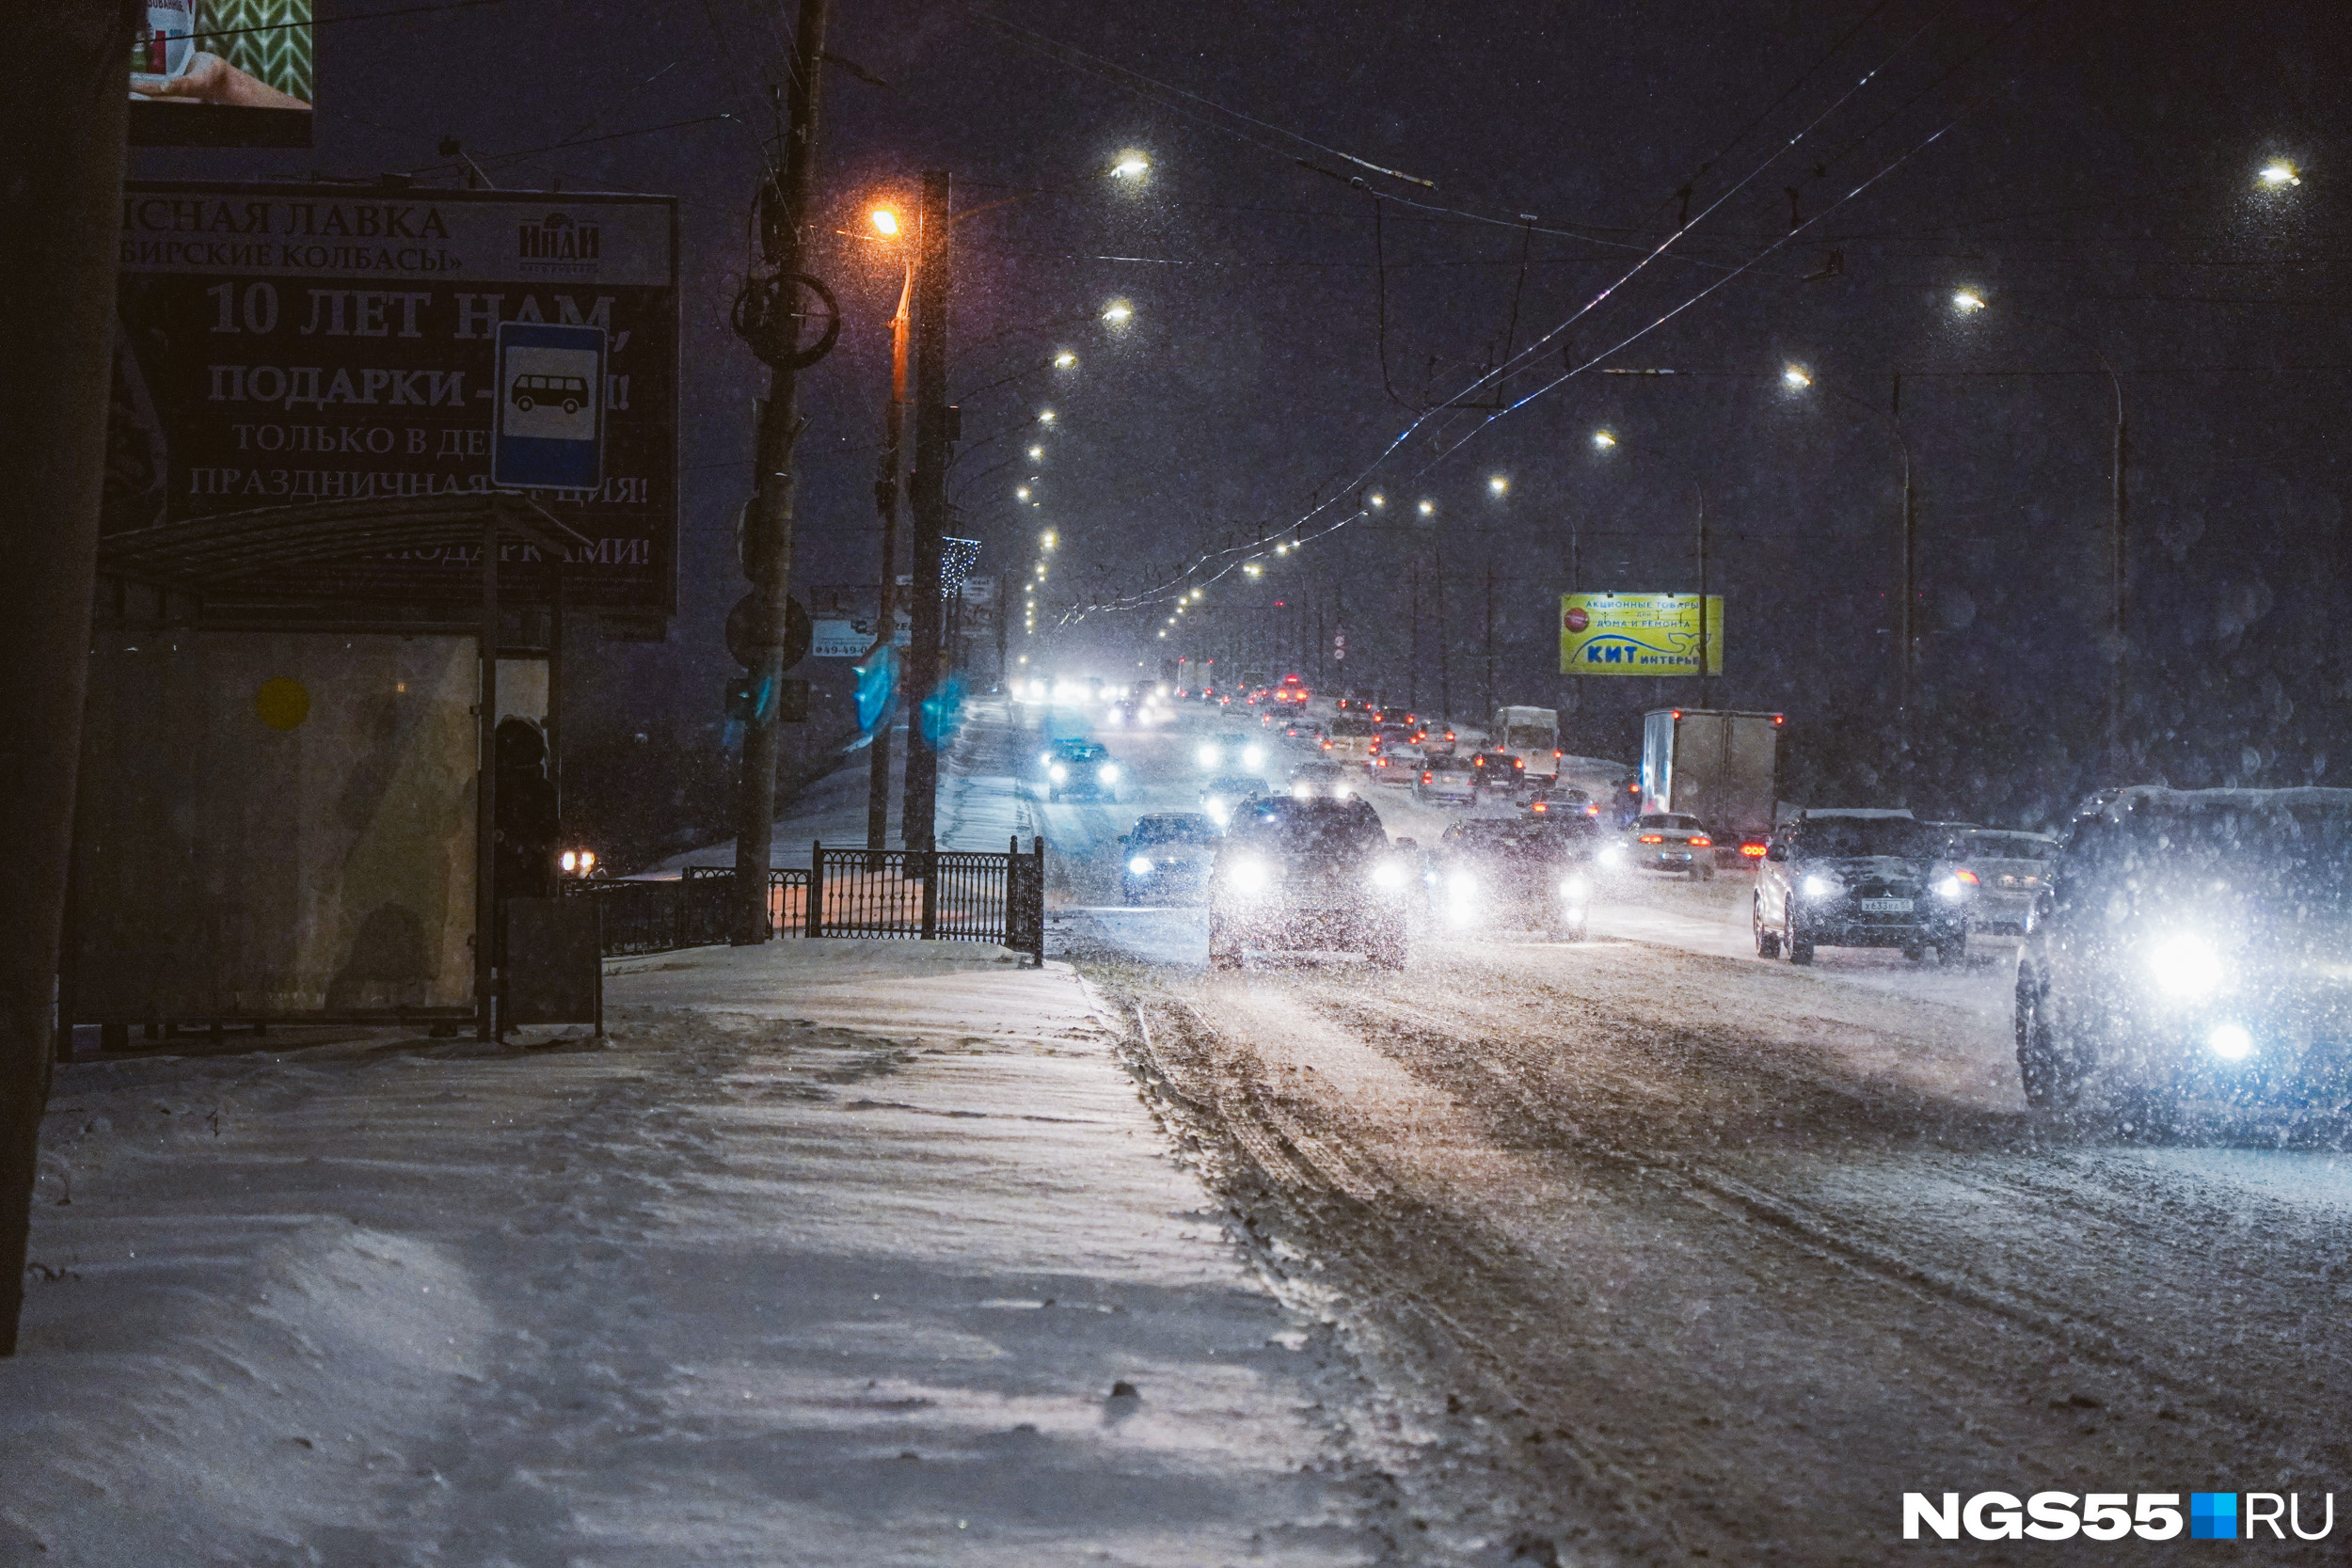
[[[379,7],[327,16],[358,9]],[[946,167],[960,207],[1044,188],[957,228],[953,374],[960,531],[988,541],[983,569],[1023,574],[1042,527],[1063,541],[1040,630],[1204,552],[1341,522],[1357,491],[1390,501],[1254,585],[1218,581],[1207,639],[1157,639],[1164,609],[1096,611],[1051,651],[1040,637],[1040,663],[1157,672],[1244,621],[1305,644],[1345,625],[1350,684],[1435,705],[1444,625],[1456,715],[1489,691],[1581,698],[1571,745],[1625,752],[1642,708],[1696,691],[1569,691],[1552,623],[1571,534],[1588,590],[1691,590],[1703,496],[1729,599],[1717,698],[1790,712],[1799,788],[1884,795],[1900,475],[1884,411],[1903,371],[1933,795],[1915,804],[2046,820],[2103,783],[2103,355],[2133,428],[2133,766],[2183,785],[2352,769],[2340,7],[1004,0],[990,16],[1009,26],[950,5],[835,14],[833,52],[887,87],[835,68],[826,89],[814,270],[849,322],[802,378],[800,581],[873,576],[896,273],[849,235]],[[715,733],[731,670],[717,630],[741,592],[729,529],[764,374],[724,313],[788,33],[786,9],[741,0],[332,24],[315,150],[132,162],[454,183],[435,146],[461,136],[501,186],[682,197],[682,614],[668,644],[595,661],[619,729]],[[1141,183],[1103,174],[1129,148],[1152,162]],[[2277,160],[2300,183],[2265,188]],[[1656,254],[1684,190],[1693,221]],[[1964,287],[1987,308],[1955,310]],[[1096,320],[1112,299],[1136,313],[1120,331]],[[1482,381],[1505,339],[1541,348]],[[1080,367],[1023,374],[1054,348]],[[1792,393],[1788,364],[1813,388]],[[1423,416],[1498,388],[1526,402]],[[1044,463],[995,468],[1042,407]],[[1597,428],[1618,444],[1597,449]],[[1028,475],[1042,505],[1023,510]]]

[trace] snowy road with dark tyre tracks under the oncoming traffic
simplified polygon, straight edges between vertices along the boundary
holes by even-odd
[[[1197,910],[1103,896],[1211,726],[1110,738],[1122,809],[1033,806],[1061,943],[1228,1150],[1228,1201],[1444,1434],[1406,1476],[1430,1519],[1498,1561],[1863,1563],[1907,1490],[2279,1490],[2310,1526],[2340,1488],[2340,1128],[2140,1147],[2032,1119],[2004,947],[1759,961],[1736,877],[1621,884],[1581,945],[1211,976]],[[1390,832],[1435,839],[1397,795]],[[2272,1552],[2324,1561],[2343,1528]]]

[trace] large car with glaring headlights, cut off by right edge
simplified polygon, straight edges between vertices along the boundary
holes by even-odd
[[[2133,785],[2074,818],[2018,952],[2025,1103],[2164,1133],[2352,1081],[2352,790]]]

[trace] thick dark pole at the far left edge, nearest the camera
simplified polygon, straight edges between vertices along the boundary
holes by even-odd
[[[12,569],[0,616],[0,1356],[16,1354],[40,1117],[59,1034],[56,959],[73,842],[89,588],[106,477],[115,242],[122,221],[122,63],[132,5],[19,7],[0,80],[0,430],[9,482],[0,541]]]

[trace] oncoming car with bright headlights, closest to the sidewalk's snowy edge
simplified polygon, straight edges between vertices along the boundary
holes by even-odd
[[[1209,875],[1209,969],[1258,952],[1359,952],[1404,969],[1409,844],[1367,799],[1261,799],[1218,844]]]

